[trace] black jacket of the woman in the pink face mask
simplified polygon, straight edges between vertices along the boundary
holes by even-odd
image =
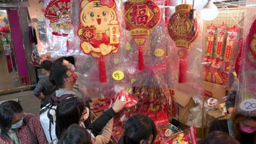
[[[210,127],[209,134],[215,130],[223,131],[223,132],[229,134],[228,121],[226,119],[224,119],[224,120],[214,119],[214,121],[212,122],[212,125]],[[255,142],[254,135],[256,135],[256,131],[254,131],[254,133],[251,133],[251,134],[244,133],[243,131],[240,131],[240,133],[241,133],[241,137],[240,137],[240,139],[237,139],[237,140],[241,144],[249,144],[249,143],[251,144],[251,143]]]

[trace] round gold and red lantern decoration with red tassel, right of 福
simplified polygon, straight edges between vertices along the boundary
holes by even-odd
[[[184,83],[187,77],[188,49],[190,49],[193,41],[196,40],[201,33],[201,19],[196,14],[195,19],[189,19],[189,11],[192,9],[190,4],[179,4],[175,7],[175,13],[168,21],[168,33],[175,41],[177,47],[182,47],[178,51],[179,61],[179,83]]]

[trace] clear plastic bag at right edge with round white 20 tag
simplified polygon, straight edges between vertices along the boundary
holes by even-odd
[[[247,1],[253,5],[255,1]],[[252,7],[252,8],[251,8]],[[256,12],[255,6],[246,9],[245,48],[242,50],[242,64],[238,74],[235,112],[247,116],[256,116],[256,77],[255,77],[255,44]]]

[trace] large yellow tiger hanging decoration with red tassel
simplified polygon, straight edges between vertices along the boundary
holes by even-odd
[[[106,82],[104,56],[117,53],[119,50],[119,22],[114,0],[83,0],[80,3],[80,26],[78,36],[86,55],[100,58],[100,82]]]

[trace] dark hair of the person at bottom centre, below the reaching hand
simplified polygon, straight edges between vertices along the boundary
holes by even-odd
[[[151,143],[156,138],[156,127],[153,120],[144,115],[131,116],[124,126],[124,133],[119,140],[119,144],[136,144],[142,140],[148,141],[152,135]]]

